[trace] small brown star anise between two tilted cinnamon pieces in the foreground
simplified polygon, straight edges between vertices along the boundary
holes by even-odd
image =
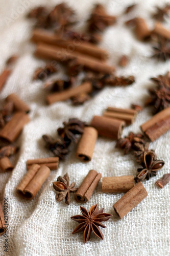
[[[76,182],[72,182],[69,185],[69,176],[66,173],[64,177],[59,176],[56,182],[53,182],[53,187],[57,191],[56,199],[61,202],[65,198],[65,203],[70,204],[70,195],[69,193],[74,193],[77,191],[75,187]]]

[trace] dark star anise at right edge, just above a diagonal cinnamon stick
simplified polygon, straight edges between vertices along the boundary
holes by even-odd
[[[146,105],[153,105],[153,114],[156,114],[169,106],[170,90],[165,87],[149,89],[151,97],[145,102]]]

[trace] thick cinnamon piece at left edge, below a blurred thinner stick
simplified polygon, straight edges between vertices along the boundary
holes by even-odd
[[[27,114],[17,112],[12,119],[0,131],[0,138],[14,142],[21,133],[23,126],[30,121]]]

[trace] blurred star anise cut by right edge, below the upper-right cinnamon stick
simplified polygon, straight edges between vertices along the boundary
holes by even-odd
[[[152,57],[156,57],[159,60],[166,61],[170,58],[170,42],[165,38],[159,38],[158,45],[153,46],[154,55]]]

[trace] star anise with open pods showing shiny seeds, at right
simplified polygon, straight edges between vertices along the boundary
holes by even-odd
[[[153,160],[153,152],[144,153],[144,161],[142,163],[142,168],[138,168],[138,175],[135,180],[137,182],[143,181],[145,179],[149,180],[153,176],[157,175],[158,170],[160,170],[164,162],[161,160]]]

